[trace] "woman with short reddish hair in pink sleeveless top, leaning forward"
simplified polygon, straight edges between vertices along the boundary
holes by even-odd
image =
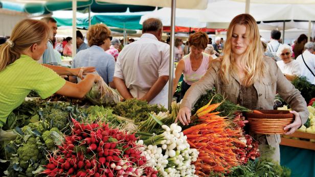
[[[180,99],[184,97],[189,87],[197,82],[208,70],[212,57],[202,53],[207,47],[208,41],[208,35],[205,32],[197,32],[189,36],[191,52],[179,61],[176,66],[175,79],[173,81],[174,95],[179,78],[181,78],[182,73],[184,73]]]

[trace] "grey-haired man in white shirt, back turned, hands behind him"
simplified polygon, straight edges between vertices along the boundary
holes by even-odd
[[[161,20],[149,18],[142,29],[141,38],[119,53],[114,83],[124,99],[139,98],[167,108],[170,46],[160,41]]]

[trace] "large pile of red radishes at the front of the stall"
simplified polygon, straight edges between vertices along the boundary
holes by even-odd
[[[73,119],[71,136],[59,146],[42,173],[48,176],[152,176],[134,134],[111,129],[108,124],[79,123]]]

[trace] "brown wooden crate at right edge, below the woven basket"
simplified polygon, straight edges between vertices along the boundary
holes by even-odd
[[[296,137],[296,138],[305,138],[305,139],[315,139],[314,133],[306,133],[306,132],[298,132],[298,131],[293,133],[292,135],[286,135],[286,136]],[[296,139],[281,137],[281,143],[280,144],[286,145],[286,146],[315,150],[315,143],[310,142],[310,141],[296,140]]]

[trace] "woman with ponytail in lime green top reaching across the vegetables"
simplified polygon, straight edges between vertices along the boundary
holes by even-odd
[[[10,39],[0,45],[0,128],[31,90],[42,98],[54,93],[81,98],[100,79],[99,75],[86,73],[82,82],[74,84],[58,74],[78,75],[79,69],[58,66],[50,66],[50,69],[38,64],[36,61],[46,49],[50,36],[51,30],[46,23],[25,19],[16,24]],[[93,70],[87,68],[85,71]]]

